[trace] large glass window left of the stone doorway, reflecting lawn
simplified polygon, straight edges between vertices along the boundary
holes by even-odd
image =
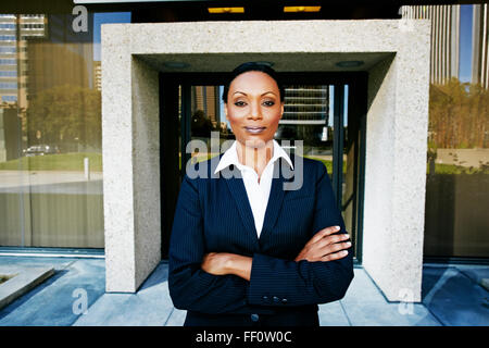
[[[48,10],[0,14],[0,246],[103,248],[100,25],[130,13]]]

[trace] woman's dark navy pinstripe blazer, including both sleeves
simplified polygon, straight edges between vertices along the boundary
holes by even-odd
[[[315,325],[317,303],[344,296],[353,278],[351,250],[336,261],[293,261],[319,229],[339,225],[346,233],[326,167],[299,159],[303,184],[297,190],[283,188],[294,179],[284,175],[283,160],[274,165],[260,238],[242,178],[211,178],[218,162],[212,160],[204,164],[206,178],[184,177],[171,236],[168,288],[174,306],[188,311],[186,325],[251,325],[265,319],[269,325]],[[202,271],[208,252],[252,257],[250,282]]]

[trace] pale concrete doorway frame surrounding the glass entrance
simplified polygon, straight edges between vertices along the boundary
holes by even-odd
[[[429,51],[427,20],[102,25],[106,291],[137,291],[161,261],[159,72],[365,61],[363,266],[388,300],[421,301]]]

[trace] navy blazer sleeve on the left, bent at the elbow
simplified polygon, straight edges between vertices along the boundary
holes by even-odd
[[[205,253],[198,179],[180,186],[168,252],[168,289],[177,309],[202,313],[239,311],[246,306],[248,281],[201,270]]]

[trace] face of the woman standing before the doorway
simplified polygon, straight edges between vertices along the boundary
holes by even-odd
[[[275,79],[262,72],[247,72],[229,86],[224,111],[236,140],[261,148],[274,138],[284,113]]]

